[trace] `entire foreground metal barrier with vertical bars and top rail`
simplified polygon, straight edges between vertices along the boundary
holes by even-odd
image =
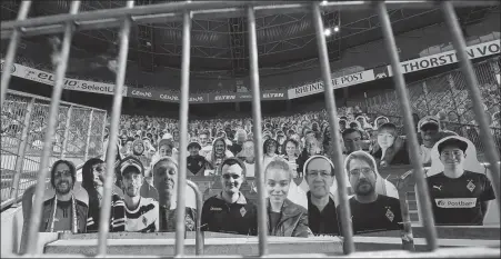
[[[384,43],[388,47],[388,53],[391,57],[391,66],[393,71],[393,80],[397,89],[398,100],[400,101],[401,116],[403,118],[403,124],[405,129],[405,135],[408,136],[408,142],[410,146],[410,156],[419,157],[419,145],[415,133],[414,122],[412,119],[412,106],[405,89],[405,81],[401,67],[399,66],[399,53],[395,46],[395,40],[393,36],[393,30],[390,23],[390,17],[388,14],[387,8],[398,8],[399,7],[418,7],[427,8],[434,4],[439,4],[445,22],[451,30],[452,41],[454,49],[458,51],[458,58],[461,63],[461,69],[465,78],[465,87],[469,90],[470,98],[472,100],[472,108],[474,110],[474,119],[477,120],[480,129],[480,137],[482,145],[484,146],[487,160],[490,163],[490,173],[492,183],[494,186],[495,196],[498,197],[497,202],[501,199],[500,197],[500,167],[499,167],[499,153],[495,150],[492,133],[489,128],[489,119],[483,112],[483,101],[480,90],[478,89],[478,79],[473,72],[471,61],[468,59],[465,50],[464,38],[461,32],[460,24],[453,8],[453,4],[474,4],[479,6],[484,3],[484,1],[323,1],[321,2],[273,2],[272,6],[268,1],[187,1],[187,2],[170,2],[170,3],[158,3],[149,6],[140,6],[134,8],[134,1],[128,1],[127,7],[99,10],[90,12],[79,12],[80,1],[72,1],[70,11],[68,14],[49,16],[41,18],[26,19],[30,8],[30,1],[23,1],[18,14],[17,21],[8,21],[1,24],[1,37],[10,38],[9,50],[6,58],[6,71],[12,66],[13,58],[16,56],[16,50],[18,47],[19,38],[21,34],[50,34],[63,32],[62,48],[60,54],[60,62],[56,69],[56,83],[52,92],[51,103],[49,108],[48,116],[48,128],[44,131],[44,142],[42,158],[40,160],[40,168],[47,168],[49,165],[49,158],[52,153],[52,136],[56,133],[58,111],[60,107],[61,92],[63,87],[63,77],[67,69],[67,62],[70,51],[70,44],[72,39],[72,33],[76,29],[100,29],[100,28],[111,28],[120,27],[120,39],[119,39],[119,56],[118,56],[118,70],[117,70],[117,81],[112,103],[111,113],[111,128],[110,128],[110,143],[116,143],[119,133],[119,118],[121,111],[122,102],[122,89],[126,77],[126,66],[127,56],[129,50],[129,33],[131,30],[131,24],[133,22],[141,23],[156,23],[166,22],[166,20],[181,20],[183,22],[182,29],[182,64],[181,64],[181,104],[180,104],[180,129],[181,139],[180,146],[187,147],[187,129],[188,129],[188,118],[189,118],[189,74],[190,74],[190,47],[191,47],[191,19],[193,16],[199,17],[210,17],[214,18],[221,14],[226,18],[228,17],[241,17],[246,16],[248,19],[248,33],[249,33],[249,53],[250,53],[250,78],[251,78],[251,89],[252,89],[252,117],[253,117],[253,136],[255,139],[261,139],[261,107],[260,107],[260,83],[259,83],[259,69],[258,69],[258,48],[257,48],[257,31],[255,31],[255,16],[261,16],[264,13],[283,13],[283,12],[304,12],[309,11],[313,13],[313,23],[317,33],[317,44],[319,50],[319,60],[321,64],[321,76],[327,88],[332,88],[331,71],[329,66],[328,49],[324,38],[324,27],[321,12],[329,10],[345,10],[348,9],[374,9],[379,14],[379,20],[381,22],[381,28],[384,37]],[[493,4],[491,1],[489,4]],[[497,3],[499,4],[499,3]],[[1,106],[3,107],[4,90],[9,84],[10,74],[2,73],[2,84],[1,84]],[[325,102],[329,113],[329,122],[331,136],[334,142],[340,142],[340,136],[337,133],[339,131],[339,124],[337,123],[338,114],[335,110],[335,101],[332,91],[324,91]],[[108,222],[110,218],[110,206],[111,206],[111,187],[112,187],[112,173],[113,163],[116,157],[112,156],[117,151],[116,145],[110,145],[107,149],[107,179],[104,183],[104,195],[101,208],[101,222],[100,232],[98,240],[98,257],[103,257],[107,255],[108,245]],[[178,173],[178,208],[184,208],[186,206],[186,188],[187,188],[187,149],[180,149],[179,158],[179,173]],[[262,157],[263,150],[259,145],[254,146],[255,157]],[[335,146],[334,153],[334,166],[335,168],[343,168],[342,165],[342,152],[339,145]],[[429,251],[434,251],[433,256],[442,256],[440,249],[438,249],[438,235],[434,228],[434,219],[432,216],[431,202],[428,196],[428,187],[424,179],[422,165],[418,161],[419,159],[412,159],[413,176],[417,182],[418,197],[422,201],[419,203],[419,209],[423,213],[423,227],[425,229],[425,241],[427,249]],[[268,231],[267,231],[267,209],[264,203],[264,179],[263,179],[263,165],[261,160],[257,161],[257,187],[258,187],[258,227],[259,227],[259,256],[268,256]],[[37,243],[39,238],[39,226],[41,221],[41,210],[42,210],[42,196],[43,196],[43,181],[47,177],[47,170],[40,170],[38,173],[38,185],[34,193],[34,202],[31,215],[31,225],[28,231],[28,253],[37,255]],[[340,221],[342,226],[343,236],[343,250],[344,253],[354,252],[353,232],[350,222],[350,207],[348,203],[348,190],[345,185],[345,173],[342,170],[335,170],[335,177],[338,179],[338,195],[340,197]],[[200,209],[200,208],[199,208]],[[181,257],[184,255],[184,215],[186,210],[177,210],[177,232],[176,232],[176,256]],[[199,226],[200,227],[200,226]],[[480,248],[471,252],[469,256],[482,257],[485,255],[492,256],[492,250],[488,248]],[[398,253],[395,253],[399,256]],[[395,257],[393,255],[392,257]],[[423,253],[424,256],[425,253]],[[499,256],[499,251],[497,253]],[[304,255],[302,255],[304,256]],[[362,255],[359,255],[362,256]],[[409,255],[401,255],[400,257],[405,257]],[[430,257],[430,255],[425,255]],[[447,255],[448,257],[458,256],[454,251]]]

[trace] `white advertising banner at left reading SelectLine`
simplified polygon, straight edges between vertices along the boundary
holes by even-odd
[[[3,62],[4,62],[4,60],[2,59],[1,60],[2,72],[3,72]],[[11,73],[14,77],[41,82],[41,83],[49,84],[49,86],[53,86],[54,79],[56,79],[56,76],[53,73],[33,69],[33,68],[26,67],[26,66],[18,64],[18,63],[14,63],[13,68],[11,69]],[[67,90],[94,92],[94,93],[103,93],[103,94],[113,94],[113,92],[114,92],[114,84],[104,83],[104,82],[87,81],[87,80],[78,80],[78,79],[71,79],[71,78],[64,78],[63,88]],[[122,94],[123,96],[127,94],[127,87],[124,87]]]

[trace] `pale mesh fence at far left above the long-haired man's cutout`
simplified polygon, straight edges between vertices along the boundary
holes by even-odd
[[[18,200],[37,182],[48,128],[50,99],[8,90],[1,108],[1,207]],[[50,162],[64,158],[76,166],[103,151],[106,111],[61,102],[51,140]]]

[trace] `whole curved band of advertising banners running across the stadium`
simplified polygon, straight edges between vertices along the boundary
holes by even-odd
[[[474,46],[470,46],[467,48],[467,53],[470,59],[488,57],[492,54],[500,53],[500,40],[493,40],[484,43],[479,43]],[[413,59],[409,61],[401,62],[403,72],[414,72],[423,69],[431,69],[435,67],[441,67],[445,64],[451,64],[458,62],[458,58],[455,56],[455,50],[423,57],[419,59]],[[2,71],[3,71],[3,60],[1,60]],[[46,72],[42,70],[29,68],[22,64],[16,63],[11,69],[11,73],[14,77],[46,83],[53,84],[54,74],[50,72]],[[375,69],[370,69],[357,73],[351,73],[338,78],[332,79],[333,89],[349,87],[353,84],[359,84],[368,81],[373,81],[375,79],[382,79],[387,77],[391,77],[391,67],[383,66]],[[497,76],[498,82],[500,81],[500,76]],[[104,83],[104,82],[96,82],[96,81],[87,81],[87,80],[78,80],[71,78],[64,78],[64,89],[76,90],[76,91],[86,91],[86,92],[94,92],[94,93],[103,93],[103,94],[113,94],[114,84]],[[240,83],[240,82],[239,82]],[[217,103],[217,102],[244,102],[252,100],[252,93],[249,91],[244,91],[243,88],[240,89],[241,92],[230,92],[230,93],[190,93],[190,103]],[[261,100],[287,100],[301,98],[305,96],[311,96],[314,93],[323,92],[323,82],[321,80],[308,83],[301,87],[297,87],[289,90],[274,90],[274,91],[265,91],[261,92]],[[161,90],[148,90],[142,88],[131,88],[124,87],[123,96],[157,100],[157,101],[167,101],[167,102],[179,102],[180,93],[172,93]]]

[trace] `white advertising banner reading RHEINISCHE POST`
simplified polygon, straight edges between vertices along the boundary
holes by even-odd
[[[347,76],[342,76],[339,78],[332,78],[332,87],[333,89],[349,87],[362,82],[368,82],[374,80],[374,71],[365,70],[362,72],[355,72]],[[323,82],[317,81],[313,83],[309,83],[302,87],[297,87],[293,89],[289,89],[289,99],[311,96],[314,93],[323,92]]]

